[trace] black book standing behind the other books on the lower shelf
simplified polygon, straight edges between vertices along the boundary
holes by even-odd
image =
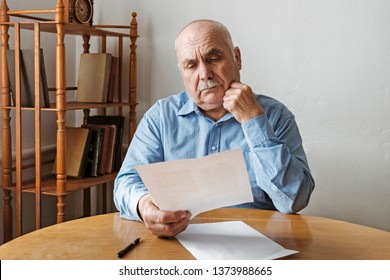
[[[115,143],[114,143],[114,156],[113,156],[113,168],[112,170],[119,170],[122,165],[122,138],[124,130],[124,121],[123,116],[105,116],[105,115],[95,115],[89,116],[87,119],[88,124],[108,124],[115,125]]]

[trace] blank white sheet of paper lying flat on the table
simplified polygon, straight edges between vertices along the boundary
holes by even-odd
[[[242,221],[190,224],[176,238],[198,260],[271,260],[298,253]]]

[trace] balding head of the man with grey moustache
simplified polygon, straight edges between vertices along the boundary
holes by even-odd
[[[233,81],[240,80],[240,51],[233,51],[224,35],[212,23],[197,22],[183,30],[176,41],[184,85],[206,114],[224,114],[225,91]]]

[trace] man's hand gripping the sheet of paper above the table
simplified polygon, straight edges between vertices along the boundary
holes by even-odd
[[[191,219],[189,211],[162,211],[147,194],[138,202],[138,210],[147,229],[158,237],[170,237],[184,231]]]

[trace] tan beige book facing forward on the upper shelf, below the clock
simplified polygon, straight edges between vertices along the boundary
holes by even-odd
[[[77,80],[77,102],[106,103],[112,55],[83,53]]]

